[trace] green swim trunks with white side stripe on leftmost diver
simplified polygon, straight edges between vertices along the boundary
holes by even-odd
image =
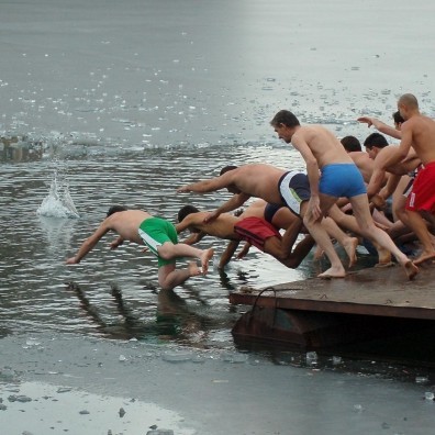
[[[158,247],[165,242],[174,245],[178,243],[178,235],[175,226],[161,217],[148,217],[138,227],[138,235],[148,246],[149,250],[157,257],[158,267],[175,264],[176,259],[164,259],[158,255]]]

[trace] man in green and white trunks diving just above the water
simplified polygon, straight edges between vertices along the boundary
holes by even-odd
[[[178,243],[174,225],[160,217],[154,217],[142,210],[127,210],[121,205],[109,209],[108,215],[97,231],[88,237],[74,257],[66,260],[67,265],[76,265],[93,249],[97,243],[109,231],[119,237],[110,244],[111,249],[122,245],[124,241],[146,245],[158,258],[158,283],[164,290],[171,290],[183,283],[188,278],[205,275],[213,249],[198,249]],[[201,261],[202,271],[196,261],[189,263],[186,269],[176,269],[177,257],[193,257]]]

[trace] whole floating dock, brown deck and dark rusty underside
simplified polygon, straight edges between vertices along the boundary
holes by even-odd
[[[233,327],[235,338],[322,348],[414,331],[435,333],[435,265],[413,281],[399,266],[368,268],[344,279],[319,278],[233,292],[252,305]]]

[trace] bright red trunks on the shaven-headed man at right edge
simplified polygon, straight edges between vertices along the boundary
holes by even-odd
[[[412,192],[408,197],[406,210],[435,212],[435,161],[424,165],[415,177]]]

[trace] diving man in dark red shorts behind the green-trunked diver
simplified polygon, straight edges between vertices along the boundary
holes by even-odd
[[[249,208],[247,209],[249,210]],[[178,233],[189,230],[192,235],[185,241],[187,244],[198,243],[205,235],[231,241],[228,247],[223,253],[219,267],[224,268],[235,253],[238,244],[246,241],[259,250],[271,255],[285,266],[295,269],[306,257],[314,245],[311,236],[306,236],[300,242],[293,252],[291,248],[299,235],[301,220],[291,213],[287,208],[282,208],[281,217],[285,227],[293,235],[289,242],[291,246],[283,247],[282,237],[278,228],[259,217],[256,214],[235,216],[230,213],[222,213],[210,223],[204,223],[208,212],[201,212],[193,205],[185,205],[178,212],[179,224],[176,225]],[[290,254],[289,254],[290,252]]]

